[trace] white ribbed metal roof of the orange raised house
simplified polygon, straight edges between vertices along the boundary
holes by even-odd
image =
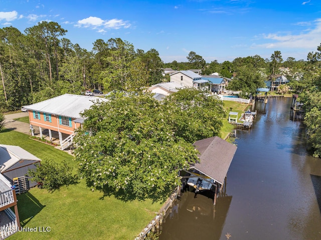
[[[25,109],[58,116],[82,118],[80,113],[89,109],[95,102],[108,101],[104,98],[84,95],[64,94],[39,103],[24,106]]]

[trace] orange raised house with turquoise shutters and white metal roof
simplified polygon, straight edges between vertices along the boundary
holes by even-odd
[[[48,130],[49,139],[58,133],[62,149],[72,144],[74,131],[82,127],[84,119],[81,113],[93,104],[108,101],[104,98],[64,94],[24,108],[29,112],[30,129],[39,127],[40,137]]]

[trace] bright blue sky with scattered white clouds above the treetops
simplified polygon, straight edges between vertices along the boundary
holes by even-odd
[[[0,28],[24,32],[41,21],[89,51],[97,39],[121,38],[165,63],[187,62],[190,51],[207,62],[274,51],[306,60],[321,44],[320,0],[0,0]]]

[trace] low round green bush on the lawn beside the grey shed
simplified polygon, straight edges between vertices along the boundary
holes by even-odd
[[[33,181],[38,182],[42,187],[48,190],[55,190],[63,185],[77,183],[77,175],[72,174],[72,168],[66,161],[58,164],[47,161],[38,166],[36,169],[28,171]]]

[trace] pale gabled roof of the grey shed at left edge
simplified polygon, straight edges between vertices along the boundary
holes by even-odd
[[[23,166],[23,161],[31,160],[32,162],[39,162],[41,159],[26,151],[19,146],[13,145],[0,145],[0,171],[4,172],[13,165],[19,163],[17,167]],[[25,164],[29,164],[30,161],[26,161]]]

